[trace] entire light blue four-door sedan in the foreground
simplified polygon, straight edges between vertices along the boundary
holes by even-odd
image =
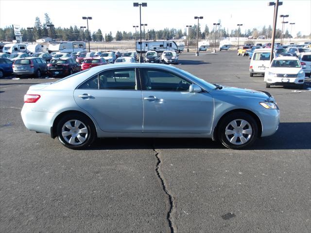
[[[93,67],[30,86],[21,116],[29,130],[58,137],[70,149],[86,148],[96,137],[204,137],[242,149],[279,124],[267,92],[146,63]]]

